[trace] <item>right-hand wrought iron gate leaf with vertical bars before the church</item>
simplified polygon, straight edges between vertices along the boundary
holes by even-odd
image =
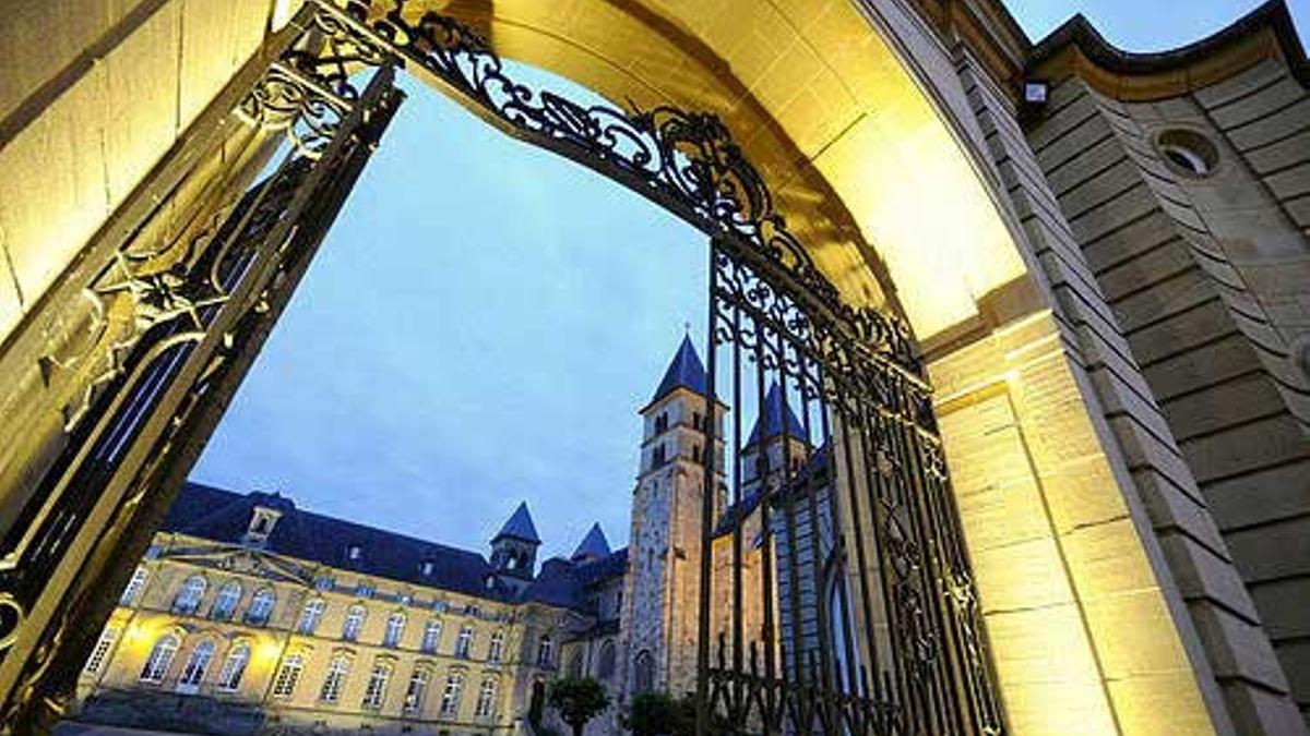
[[[909,333],[785,253],[710,249],[707,405],[731,428],[706,443],[727,457],[702,486],[698,729],[1002,733]]]

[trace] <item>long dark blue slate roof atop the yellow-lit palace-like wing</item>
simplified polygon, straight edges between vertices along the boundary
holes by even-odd
[[[276,494],[237,494],[202,483],[186,483],[164,521],[164,529],[240,545],[255,506],[283,512],[263,547],[269,551],[338,570],[354,570],[472,596],[507,595],[502,589],[486,588],[486,579],[493,568],[478,553],[303,511]],[[352,545],[360,547],[358,561],[347,555]],[[424,562],[432,563],[430,575],[423,575]]]

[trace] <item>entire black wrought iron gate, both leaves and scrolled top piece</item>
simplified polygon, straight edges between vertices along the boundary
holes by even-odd
[[[103,589],[130,572],[394,113],[397,68],[711,238],[710,396],[738,411],[722,492],[706,447],[702,549],[727,540],[728,574],[702,554],[698,731],[1000,733],[905,325],[842,303],[714,115],[532,90],[406,0],[309,0],[55,287],[84,308],[4,346],[0,376],[39,364],[63,411],[0,529],[4,729],[71,690]],[[753,448],[751,403],[766,419]]]

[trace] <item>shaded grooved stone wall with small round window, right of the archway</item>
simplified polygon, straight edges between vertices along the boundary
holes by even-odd
[[[1251,81],[1231,83],[1241,84]],[[1207,97],[1225,100],[1217,90]],[[1241,115],[1225,119],[1243,124]],[[1210,174],[1166,161],[1158,135],[1178,128],[1216,141]],[[1296,732],[1281,702],[1284,669],[1297,680],[1288,627],[1303,617],[1251,598],[1267,581],[1286,601],[1310,571],[1310,553],[1276,538],[1310,524],[1306,381],[1288,360],[1289,338],[1305,325],[1298,289],[1310,268],[1280,202],[1214,134],[1189,100],[1123,103],[1070,79],[1052,90],[1028,139],[1146,380],[1149,401],[1120,407],[1112,422],[1120,437],[1154,448],[1134,453],[1134,475],[1149,474],[1172,490],[1175,506],[1191,507],[1191,524],[1157,529],[1239,731]],[[1279,572],[1269,575],[1269,564]],[[1303,708],[1305,694],[1297,699]]]

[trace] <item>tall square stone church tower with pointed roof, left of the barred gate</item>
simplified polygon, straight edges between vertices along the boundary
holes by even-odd
[[[718,431],[710,432],[705,393],[705,365],[690,338],[683,338],[654,398],[641,410],[622,612],[625,698],[650,690],[684,695],[696,686],[703,458],[711,435],[715,515],[726,498],[722,428],[728,407],[718,403]]]

